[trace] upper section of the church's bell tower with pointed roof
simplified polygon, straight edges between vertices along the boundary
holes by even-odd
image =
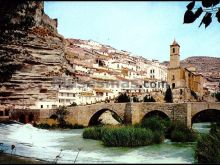
[[[169,68],[180,67],[180,45],[174,39],[173,44],[170,45],[170,65]]]

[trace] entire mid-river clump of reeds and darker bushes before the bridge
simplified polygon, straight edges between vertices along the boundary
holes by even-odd
[[[97,126],[84,129],[83,138],[101,140],[106,146],[135,147],[159,144],[170,138],[174,142],[193,142],[197,133],[180,121],[152,116],[134,126]]]

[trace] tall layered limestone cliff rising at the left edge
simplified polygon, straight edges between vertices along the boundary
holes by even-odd
[[[0,104],[55,98],[53,76],[66,71],[64,38],[40,1],[0,1]]]

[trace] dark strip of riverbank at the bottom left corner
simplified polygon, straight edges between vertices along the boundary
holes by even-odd
[[[0,153],[0,164],[49,164],[50,162],[19,155]]]

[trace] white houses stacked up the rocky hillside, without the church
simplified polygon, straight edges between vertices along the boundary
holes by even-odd
[[[91,40],[70,39],[67,52],[75,79],[72,75],[62,77],[62,83],[54,85],[56,100],[38,100],[32,108],[87,105],[115,100],[123,92],[138,97],[166,90],[167,68],[157,60],[149,61]]]

